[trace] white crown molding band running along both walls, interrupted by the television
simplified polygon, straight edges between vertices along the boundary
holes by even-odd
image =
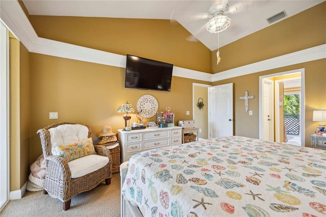
[[[121,68],[126,66],[126,57],[123,55],[38,37],[17,1],[0,1],[0,7],[2,21],[30,52]],[[325,44],[215,74],[174,66],[173,75],[216,82],[324,58],[326,58]]]

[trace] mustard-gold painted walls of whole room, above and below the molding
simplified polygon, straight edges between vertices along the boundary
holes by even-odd
[[[216,73],[325,44],[325,7],[325,3],[319,4],[305,12],[271,25],[265,30],[220,48],[222,62],[219,67],[215,66],[216,50],[211,52],[199,42],[187,42],[185,38],[189,36],[189,33],[181,25],[171,25],[167,20],[29,15],[28,17],[40,37],[121,55],[130,53],[173,63],[182,68]],[[128,28],[121,28],[125,24]],[[220,37],[223,35],[221,34]],[[20,49],[20,52],[26,57],[24,48]],[[22,59],[21,57],[20,63],[16,62],[17,67],[22,64]],[[101,131],[104,125],[111,125],[114,131],[124,126],[123,115],[117,113],[116,110],[126,100],[137,107],[139,97],[144,94],[151,94],[158,101],[159,111],[165,111],[166,106],[171,107],[171,111],[176,114],[175,122],[177,122],[178,120],[187,120],[189,116],[185,115],[185,111],[192,111],[192,83],[211,85],[209,82],[173,76],[170,93],[125,89],[124,68],[36,53],[30,53],[29,63],[25,62],[24,64],[30,64],[30,67],[20,65],[20,73],[28,74],[28,69],[23,69],[24,67],[30,70],[30,164],[42,152],[39,136],[36,134],[37,129],[41,127],[60,121],[89,124],[93,130],[93,139],[96,143],[98,142],[97,133]],[[310,146],[309,135],[314,132],[316,125],[311,121],[312,111],[326,109],[326,95],[316,94],[316,90],[319,93],[326,92],[325,59],[214,82],[212,85],[234,83],[236,135],[258,138],[259,76],[300,68],[306,69],[305,135],[306,146]],[[22,75],[17,74],[16,79],[23,79],[20,76]],[[13,111],[11,113],[19,114],[20,117],[28,114],[29,111],[28,102],[18,100],[21,97],[28,97],[28,93],[23,90],[29,91],[27,83],[23,84],[21,87],[17,87],[17,84],[11,84],[13,94],[11,105],[16,103],[24,106],[23,108],[13,106],[14,113]],[[253,116],[245,114],[243,101],[237,100],[239,96],[244,94],[244,90],[255,95],[255,99],[249,103]],[[49,120],[49,112],[59,112],[59,119]],[[25,119],[21,120],[24,123],[28,122]],[[26,153],[24,150],[28,147],[28,145],[22,144],[21,138],[19,139],[21,127],[23,126],[24,132],[27,130],[27,124],[19,123],[21,120],[11,116],[11,130],[14,133],[14,137],[11,135],[11,153],[13,151],[19,153],[17,155],[11,154],[10,174],[11,180],[13,180],[11,191],[19,189],[24,182],[23,180],[28,179],[27,176],[20,175],[25,174],[25,169],[22,168],[26,167],[25,159],[21,158],[20,154]],[[135,116],[133,115],[131,121],[134,120]],[[21,124],[22,126],[20,126]],[[17,178],[20,183],[15,181]]]

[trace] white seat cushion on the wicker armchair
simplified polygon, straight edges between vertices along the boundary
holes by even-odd
[[[68,162],[71,178],[78,178],[92,173],[108,163],[108,157],[91,154]]]

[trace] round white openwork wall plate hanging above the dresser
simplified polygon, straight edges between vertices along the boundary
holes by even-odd
[[[137,102],[137,110],[144,118],[151,118],[156,115],[157,109],[157,100],[151,95],[144,95]]]

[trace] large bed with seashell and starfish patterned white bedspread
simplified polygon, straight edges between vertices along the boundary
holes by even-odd
[[[221,137],[133,155],[121,165],[121,214],[325,216],[326,151]]]

